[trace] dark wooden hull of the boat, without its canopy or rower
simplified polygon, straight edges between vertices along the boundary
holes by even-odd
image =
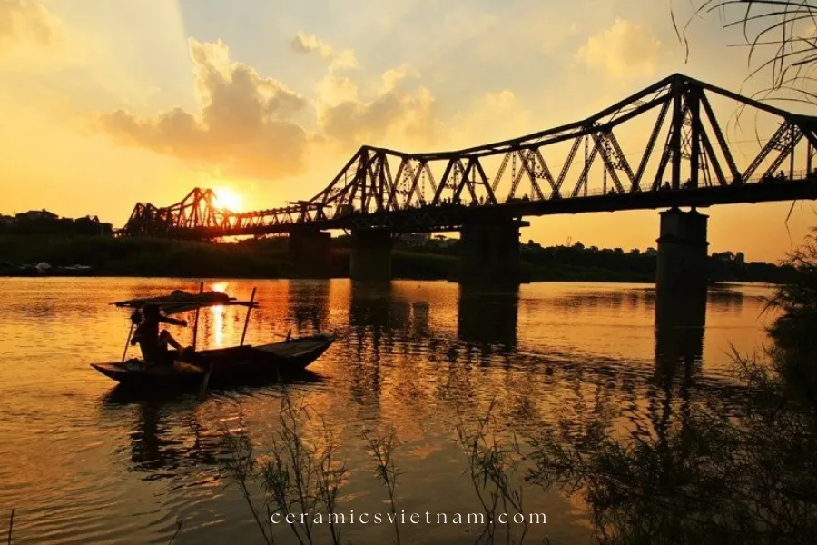
[[[209,385],[234,385],[274,380],[302,372],[326,352],[335,338],[315,335],[261,346],[235,346],[196,352],[182,358],[172,352],[172,364],[143,362],[92,363],[98,372],[123,387],[143,391],[198,388],[210,371]],[[136,365],[133,365],[133,363]],[[212,370],[212,371],[211,371]]]

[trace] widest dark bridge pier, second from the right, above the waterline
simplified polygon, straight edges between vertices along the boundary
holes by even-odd
[[[459,270],[462,284],[516,285],[527,282],[519,266],[519,228],[530,223],[496,220],[466,223],[460,231]]]

